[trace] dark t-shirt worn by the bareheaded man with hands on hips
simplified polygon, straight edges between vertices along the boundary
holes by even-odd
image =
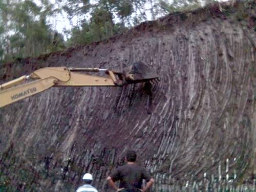
[[[110,177],[112,180],[120,180],[119,188],[141,188],[142,180],[145,179],[146,182],[150,181],[151,175],[144,168],[136,164],[126,164],[118,167]]]

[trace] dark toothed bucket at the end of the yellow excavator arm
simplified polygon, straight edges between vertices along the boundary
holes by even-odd
[[[126,83],[138,83],[158,80],[158,75],[142,61],[137,61],[129,68],[124,69],[123,74]]]

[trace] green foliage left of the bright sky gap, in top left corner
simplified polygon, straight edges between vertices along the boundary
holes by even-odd
[[[42,1],[40,6],[32,0],[2,1],[0,62],[11,61],[17,57],[35,57],[63,49],[63,38],[59,38],[56,44],[55,33],[47,22],[54,11],[56,10],[53,10],[49,1]]]

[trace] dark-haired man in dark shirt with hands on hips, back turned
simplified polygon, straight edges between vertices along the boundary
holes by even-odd
[[[118,167],[107,178],[109,185],[116,191],[144,192],[153,185],[154,179],[144,167],[141,167],[135,163],[136,158],[137,155],[135,151],[127,151],[125,158],[127,164]],[[144,188],[141,188],[143,179],[145,179],[147,183]],[[115,181],[118,180],[120,180],[119,188],[115,185]]]

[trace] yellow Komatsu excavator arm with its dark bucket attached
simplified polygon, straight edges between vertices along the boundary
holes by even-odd
[[[104,72],[104,76],[91,75],[92,72]],[[157,79],[158,76],[142,61],[135,62],[123,72],[99,68],[41,68],[30,75],[1,84],[0,108],[51,87],[124,86]]]

